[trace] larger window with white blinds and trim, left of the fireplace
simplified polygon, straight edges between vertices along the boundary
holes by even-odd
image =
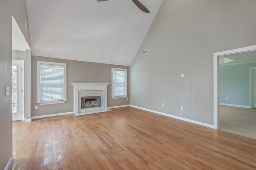
[[[37,103],[64,103],[66,100],[66,63],[37,61]]]

